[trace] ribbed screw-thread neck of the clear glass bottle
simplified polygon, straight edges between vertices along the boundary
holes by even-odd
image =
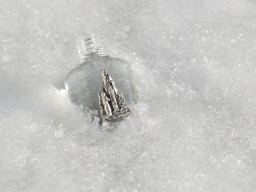
[[[77,40],[77,50],[81,61],[102,55],[102,44],[97,34],[84,34]]]

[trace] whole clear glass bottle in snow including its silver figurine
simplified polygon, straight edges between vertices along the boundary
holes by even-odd
[[[138,99],[129,63],[103,55],[96,34],[82,36],[77,48],[81,63],[65,77],[71,102],[98,110],[103,121],[129,115],[129,107]]]

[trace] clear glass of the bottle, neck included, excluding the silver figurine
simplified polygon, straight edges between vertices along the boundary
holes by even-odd
[[[85,34],[77,45],[82,63],[65,77],[65,88],[73,104],[96,109],[100,114],[98,92],[102,89],[103,69],[108,70],[115,85],[123,93],[127,106],[137,102],[133,75],[127,61],[102,55],[100,36],[96,34]]]

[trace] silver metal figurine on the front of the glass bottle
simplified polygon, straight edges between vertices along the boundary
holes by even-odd
[[[102,124],[122,117],[127,117],[131,109],[125,105],[125,98],[115,86],[115,82],[108,75],[108,71],[102,71],[103,86],[98,94]]]

